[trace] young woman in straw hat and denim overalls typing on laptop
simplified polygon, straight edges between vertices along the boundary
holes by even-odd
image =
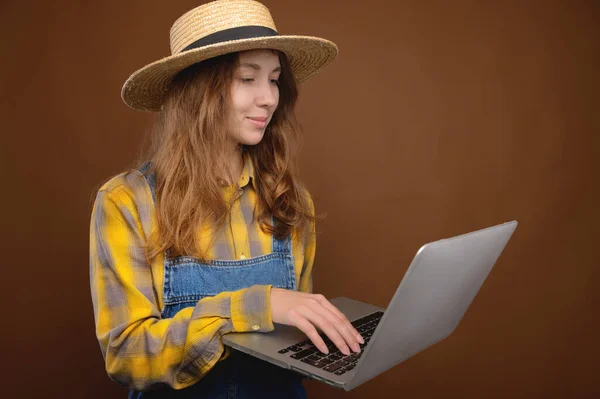
[[[125,103],[156,111],[139,168],[97,193],[90,278],[96,335],[130,397],[304,397],[300,377],[225,348],[273,323],[322,330],[346,354],[359,333],[313,294],[315,215],[295,168],[297,82],[337,54],[278,35],[269,11],[215,1],[171,28],[172,55],[135,72]]]

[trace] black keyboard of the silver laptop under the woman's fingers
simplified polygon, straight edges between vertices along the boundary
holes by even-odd
[[[375,328],[377,328],[382,316],[383,312],[375,312],[352,322],[354,328],[356,328],[365,340],[364,344],[359,344],[361,349],[359,353],[354,353],[350,350],[349,356],[344,355],[323,333],[321,333],[321,338],[323,338],[325,345],[327,345],[327,348],[329,349],[329,354],[327,355],[317,349],[309,339],[288,346],[287,348],[280,350],[279,353],[284,354],[292,352],[290,353],[290,357],[293,359],[298,359],[301,362],[329,371],[335,375],[342,375],[356,367],[356,363],[358,363],[358,360],[364,352],[363,349],[371,340],[371,336],[373,335],[373,332],[375,332]]]

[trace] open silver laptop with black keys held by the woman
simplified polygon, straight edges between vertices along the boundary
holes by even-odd
[[[342,354],[322,333],[329,354],[296,327],[270,333],[231,333],[225,345],[349,391],[448,337],[471,305],[517,221],[431,242],[417,251],[386,309],[339,297],[342,311],[365,340]]]

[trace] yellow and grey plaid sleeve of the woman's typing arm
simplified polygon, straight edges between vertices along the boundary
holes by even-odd
[[[223,334],[257,326],[258,331],[273,330],[271,286],[222,292],[162,319],[144,250],[143,221],[131,195],[122,191],[100,189],[90,224],[90,284],[106,370],[136,390],[157,384],[181,389],[219,361]],[[308,263],[306,278],[312,268]]]

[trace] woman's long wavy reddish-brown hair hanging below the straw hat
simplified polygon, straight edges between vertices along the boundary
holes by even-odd
[[[257,222],[264,232],[283,238],[293,230],[302,236],[307,223],[317,218],[297,176],[302,145],[294,113],[297,84],[285,54],[273,51],[282,69],[279,105],[260,143],[243,150],[254,167]],[[150,160],[147,173],[156,174],[158,229],[150,237],[150,258],[168,250],[172,256],[194,255],[206,261],[207,248],[200,248],[196,240],[198,229],[208,222],[216,231],[226,220],[231,204],[225,201],[218,177],[236,181],[223,160],[229,89],[238,64],[239,53],[232,53],[180,72],[156,117],[150,148],[138,159]]]

